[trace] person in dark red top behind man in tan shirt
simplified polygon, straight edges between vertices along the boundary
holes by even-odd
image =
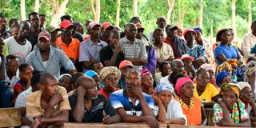
[[[18,80],[18,82],[14,85],[14,101],[18,97],[18,94],[30,87],[30,80],[34,71],[33,67],[27,63],[22,63],[20,66],[18,66],[18,70],[20,80]]]

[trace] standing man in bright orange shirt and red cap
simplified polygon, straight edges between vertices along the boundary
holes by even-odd
[[[72,38],[74,32],[74,25],[68,20],[62,21],[59,26],[62,30],[62,34],[56,39],[56,44],[62,48],[66,56],[76,64],[79,58],[79,45],[80,42],[77,38]]]

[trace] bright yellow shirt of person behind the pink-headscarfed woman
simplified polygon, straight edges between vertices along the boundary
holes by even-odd
[[[200,98],[201,101],[206,101],[206,102],[213,102],[212,98],[218,94],[217,88],[208,83],[206,86],[206,90],[199,96],[198,95],[198,90],[197,90],[197,84],[194,84],[194,96],[196,98]]]

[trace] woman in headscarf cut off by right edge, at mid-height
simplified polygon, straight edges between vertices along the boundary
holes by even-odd
[[[246,65],[246,82],[248,82],[251,86],[251,90],[253,93],[253,97],[256,96],[256,61],[250,61]]]

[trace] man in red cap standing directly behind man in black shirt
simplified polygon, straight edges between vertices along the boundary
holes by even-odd
[[[106,43],[110,43],[110,31],[113,30],[113,26],[110,22],[103,22],[102,26],[101,26],[101,31],[102,31],[102,36],[101,39],[102,41],[106,42]]]

